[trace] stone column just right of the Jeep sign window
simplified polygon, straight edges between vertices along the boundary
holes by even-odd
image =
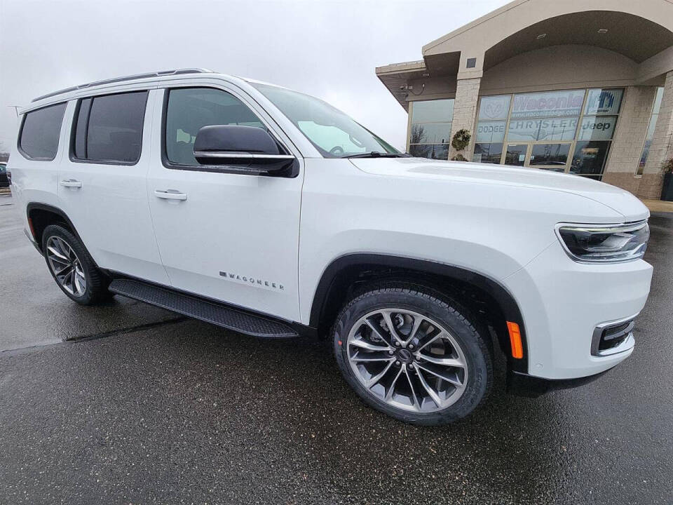
[[[626,88],[603,182],[638,193],[641,177],[636,177],[636,172],[656,93],[656,86]]]

